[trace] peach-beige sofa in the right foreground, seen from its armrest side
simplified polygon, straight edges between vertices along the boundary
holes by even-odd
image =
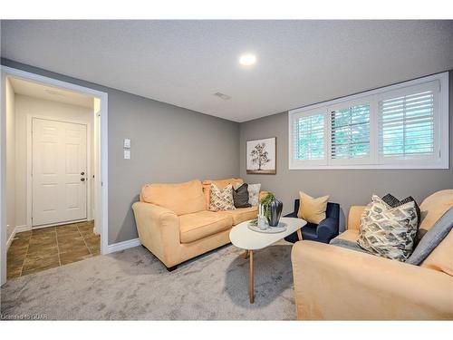
[[[420,228],[452,206],[453,189],[429,196]],[[357,240],[363,209],[351,208],[338,238]],[[298,319],[453,319],[453,230],[421,266],[312,241],[294,245],[292,262]]]

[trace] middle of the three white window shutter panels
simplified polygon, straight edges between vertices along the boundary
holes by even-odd
[[[370,157],[370,104],[331,112],[331,158],[356,160]]]

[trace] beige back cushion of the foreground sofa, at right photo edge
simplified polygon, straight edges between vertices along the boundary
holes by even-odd
[[[453,207],[453,189],[440,190],[424,199],[420,204],[419,231],[421,234],[432,228],[451,207]]]

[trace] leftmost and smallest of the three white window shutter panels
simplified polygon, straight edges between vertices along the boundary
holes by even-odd
[[[294,160],[323,160],[324,113],[296,118],[293,128]]]

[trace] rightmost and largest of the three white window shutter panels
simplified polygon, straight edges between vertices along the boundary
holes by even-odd
[[[378,104],[381,159],[429,158],[435,153],[437,83],[390,93]]]

